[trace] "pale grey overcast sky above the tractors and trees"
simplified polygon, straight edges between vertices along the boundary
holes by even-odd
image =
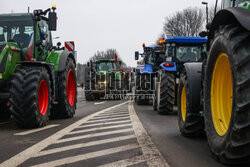
[[[205,0],[204,0],[205,1]],[[215,0],[206,0],[215,3]],[[54,41],[75,41],[78,62],[86,63],[97,50],[117,49],[128,65],[136,65],[134,52],[153,43],[162,32],[164,18],[202,0],[1,0],[0,13],[27,12],[57,5],[58,28]],[[204,6],[205,10],[205,6]]]

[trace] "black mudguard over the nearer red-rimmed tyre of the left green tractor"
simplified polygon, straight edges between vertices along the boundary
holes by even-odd
[[[31,67],[45,67],[48,72],[49,72],[49,78],[51,81],[51,95],[52,95],[52,100],[55,100],[55,95],[56,95],[56,74],[55,74],[55,69],[54,69],[54,64],[52,63],[46,63],[43,61],[21,61],[17,64],[17,66],[31,66]]]

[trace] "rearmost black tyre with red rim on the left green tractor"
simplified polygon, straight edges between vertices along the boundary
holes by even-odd
[[[76,110],[77,85],[73,59],[68,58],[63,72],[59,73],[58,104],[53,106],[54,118],[72,118]]]

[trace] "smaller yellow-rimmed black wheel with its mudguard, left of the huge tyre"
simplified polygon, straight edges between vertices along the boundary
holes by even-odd
[[[181,76],[177,96],[179,129],[188,137],[204,134],[204,118],[200,113],[201,63],[196,64],[200,64],[197,70]]]

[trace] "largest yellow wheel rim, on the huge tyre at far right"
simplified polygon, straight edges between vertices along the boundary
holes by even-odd
[[[221,53],[215,63],[211,82],[211,112],[216,132],[224,136],[232,114],[233,83],[227,54]]]

